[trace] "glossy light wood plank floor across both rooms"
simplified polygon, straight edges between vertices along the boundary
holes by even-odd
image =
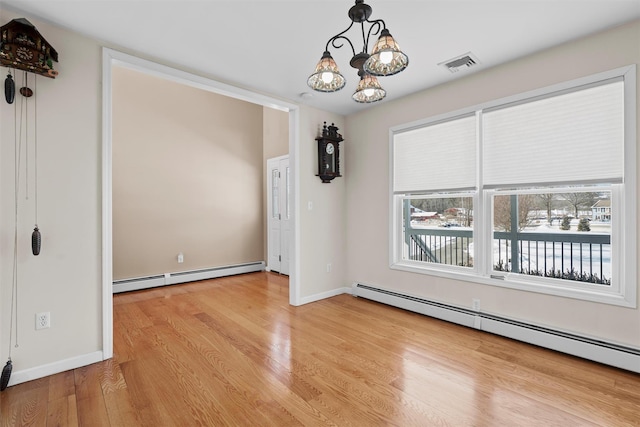
[[[253,273],[114,296],[115,357],[9,387],[2,426],[628,426],[640,375]]]

